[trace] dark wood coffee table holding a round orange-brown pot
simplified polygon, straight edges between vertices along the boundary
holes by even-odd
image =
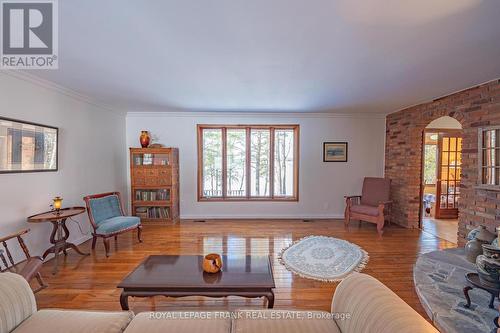
[[[127,275],[120,304],[129,310],[128,297],[242,296],[267,298],[274,306],[274,278],[268,256],[222,256],[222,272],[203,272],[203,256],[149,256]]]

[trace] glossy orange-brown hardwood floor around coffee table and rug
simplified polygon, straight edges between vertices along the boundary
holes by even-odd
[[[318,220],[217,220],[205,223],[182,221],[169,226],[144,226],[143,243],[135,234],[120,235],[112,242],[111,256],[106,258],[99,242],[90,256],[72,251],[61,256],[60,271],[51,274],[52,262],[44,264],[42,274],[49,287],[36,295],[39,308],[78,308],[120,310],[120,289],[116,285],[146,256],[152,254],[227,254],[271,255],[273,262],[275,308],[330,309],[336,283],[304,279],[288,272],[277,261],[277,253],[291,242],[308,235],[327,235],[346,239],[368,251],[370,261],[364,273],[370,274],[403,298],[426,317],[413,286],[412,267],[420,253],[456,245],[420,230],[387,227],[382,239],[375,225],[351,223],[345,230],[343,221]],[[90,250],[90,242],[80,246]],[[187,297],[131,298],[134,312],[168,310],[221,310],[263,307],[262,299],[229,297],[226,299]],[[426,317],[427,318],[427,317]]]

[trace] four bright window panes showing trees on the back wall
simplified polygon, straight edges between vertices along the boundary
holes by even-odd
[[[199,130],[201,198],[296,197],[298,126]]]

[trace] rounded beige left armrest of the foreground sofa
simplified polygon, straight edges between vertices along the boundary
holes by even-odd
[[[28,282],[15,273],[0,273],[0,333],[9,333],[35,312]]]

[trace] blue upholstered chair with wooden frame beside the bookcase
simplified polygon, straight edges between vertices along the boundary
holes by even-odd
[[[125,216],[119,192],[89,195],[83,198],[87,205],[89,220],[94,228],[92,249],[95,249],[97,237],[102,237],[106,257],[109,257],[109,238],[137,229],[137,238],[141,239],[141,219],[137,216]]]

